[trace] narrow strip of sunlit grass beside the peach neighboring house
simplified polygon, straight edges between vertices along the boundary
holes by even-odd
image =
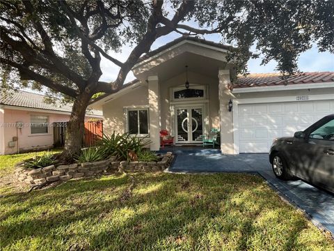
[[[52,153],[60,153],[61,151],[61,149],[50,150]],[[0,155],[0,174],[8,174],[9,172],[13,172],[13,168],[17,162],[22,162],[23,160],[33,158],[36,155],[43,155],[45,153],[47,153],[47,151]]]

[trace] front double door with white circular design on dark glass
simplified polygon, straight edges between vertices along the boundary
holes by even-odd
[[[202,143],[203,106],[176,107],[176,143]]]

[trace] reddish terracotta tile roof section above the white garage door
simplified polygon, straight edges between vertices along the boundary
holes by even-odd
[[[238,77],[233,88],[334,82],[334,72],[301,73],[289,77],[286,82],[281,76],[280,73],[253,73],[246,77]]]

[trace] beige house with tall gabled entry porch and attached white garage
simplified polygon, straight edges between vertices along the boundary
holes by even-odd
[[[334,113],[334,73],[303,73],[287,82],[276,73],[250,74],[232,85],[228,50],[178,38],[149,52],[132,69],[136,80],[91,105],[103,111],[104,132],[149,135],[157,151],[161,129],[184,145],[200,144],[202,135],[219,128],[222,153],[264,153],[273,138]]]

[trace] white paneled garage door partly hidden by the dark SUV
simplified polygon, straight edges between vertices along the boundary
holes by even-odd
[[[334,100],[238,105],[239,152],[267,153],[276,137],[291,137],[334,113]]]

